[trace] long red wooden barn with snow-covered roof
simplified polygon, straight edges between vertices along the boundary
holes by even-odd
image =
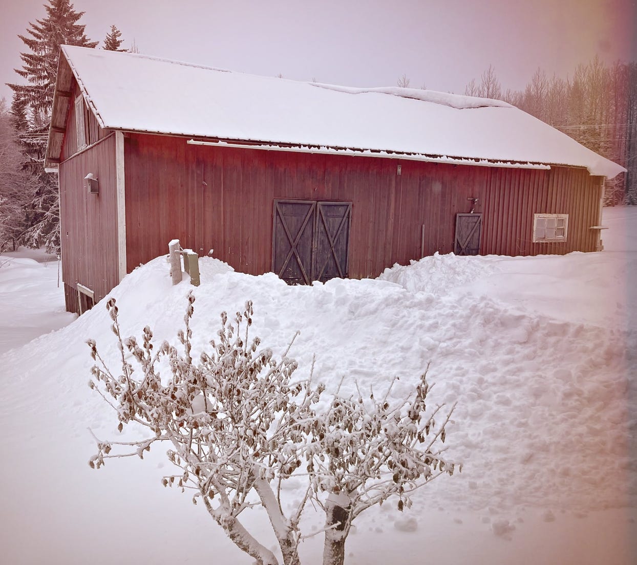
[[[71,311],[173,238],[294,283],[435,252],[599,250],[603,182],[624,170],[501,101],[71,46],[45,166]]]

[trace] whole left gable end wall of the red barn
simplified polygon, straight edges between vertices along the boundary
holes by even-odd
[[[48,154],[55,151],[49,165],[59,175],[62,279],[66,309],[80,310],[82,292],[89,289],[92,301],[102,299],[121,280],[117,234],[117,133],[103,129],[85,103],[77,80],[61,57],[56,97],[49,134]],[[68,71],[62,70],[68,69]],[[78,126],[79,112],[82,113]],[[83,126],[83,127],[82,127]],[[83,134],[78,135],[82,128]],[[78,137],[85,143],[80,146]],[[97,179],[99,192],[89,192],[87,175]]]

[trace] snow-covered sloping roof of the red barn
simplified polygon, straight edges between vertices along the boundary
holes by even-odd
[[[297,82],[76,46],[62,47],[48,166],[61,151],[64,124],[55,118],[71,73],[106,129],[487,166],[568,165],[609,178],[625,170],[502,101]]]

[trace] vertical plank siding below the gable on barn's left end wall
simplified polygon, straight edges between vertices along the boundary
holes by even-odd
[[[89,194],[84,177],[93,173],[99,194]],[[115,134],[60,164],[62,280],[67,310],[77,311],[76,284],[101,300],[119,282]]]

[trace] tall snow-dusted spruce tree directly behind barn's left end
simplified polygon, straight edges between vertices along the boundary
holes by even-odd
[[[47,17],[29,22],[27,34],[18,35],[29,52],[20,54],[22,69],[15,69],[27,84],[9,84],[13,90],[12,114],[18,126],[22,152],[36,187],[34,198],[27,206],[29,227],[24,243],[34,247],[45,245],[47,250],[59,250],[59,194],[57,178],[45,173],[42,167],[47,147],[51,118],[55,75],[61,45],[95,47],[89,41],[85,25],[78,24],[84,12],[73,9],[69,0],[47,0]],[[22,118],[17,115],[21,108]]]

